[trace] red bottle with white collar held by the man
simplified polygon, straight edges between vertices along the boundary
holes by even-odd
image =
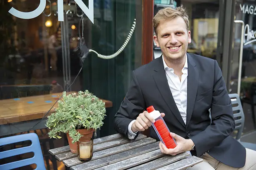
[[[155,122],[152,123],[154,130],[157,133],[160,141],[170,149],[176,147],[176,141],[170,135],[170,130],[168,129],[164,119],[161,117],[161,114],[158,110],[155,110],[153,106],[147,108],[147,112],[154,118]]]

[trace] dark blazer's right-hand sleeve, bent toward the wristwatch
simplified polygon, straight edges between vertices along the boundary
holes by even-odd
[[[201,156],[214,146],[218,146],[235,128],[231,100],[226,90],[221,69],[216,61],[214,64],[214,87],[211,102],[212,124],[201,133],[191,137],[196,147],[197,156]]]

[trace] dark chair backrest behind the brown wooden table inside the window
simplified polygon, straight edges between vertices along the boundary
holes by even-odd
[[[2,85],[1,99],[50,94],[51,85]]]

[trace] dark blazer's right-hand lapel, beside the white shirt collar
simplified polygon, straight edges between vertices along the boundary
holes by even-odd
[[[196,100],[196,92],[198,87],[199,72],[196,69],[193,57],[187,53],[188,56],[188,81],[187,81],[187,108],[186,108],[186,127],[192,116],[194,104]]]

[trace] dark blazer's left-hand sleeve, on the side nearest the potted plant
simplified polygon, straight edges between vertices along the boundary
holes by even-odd
[[[144,111],[145,101],[135,72],[132,72],[132,82],[119,110],[114,116],[114,129],[128,138],[128,125]],[[138,133],[137,133],[138,136]],[[134,137],[133,140],[137,138]]]

